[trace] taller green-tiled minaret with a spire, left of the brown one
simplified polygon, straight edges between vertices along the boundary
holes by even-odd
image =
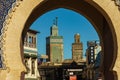
[[[57,19],[50,30],[51,34],[46,38],[47,61],[60,63],[63,61],[63,36],[58,34]]]

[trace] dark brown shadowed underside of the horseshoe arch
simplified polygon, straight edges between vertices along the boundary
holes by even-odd
[[[102,45],[102,64],[101,70],[105,80],[117,80],[113,66],[117,55],[117,41],[113,25],[107,14],[97,4],[84,0],[44,0],[34,10],[26,21],[22,39],[31,24],[42,14],[57,8],[67,8],[85,16],[96,29]]]

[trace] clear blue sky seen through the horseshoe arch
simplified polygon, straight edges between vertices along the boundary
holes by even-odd
[[[85,55],[87,41],[99,40],[96,30],[84,16],[69,9],[59,8],[41,15],[30,27],[40,32],[37,41],[39,54],[46,54],[46,37],[50,36],[50,27],[56,17],[58,17],[59,35],[64,38],[65,59],[72,58],[71,49],[76,33],[80,34],[83,43],[83,55]]]

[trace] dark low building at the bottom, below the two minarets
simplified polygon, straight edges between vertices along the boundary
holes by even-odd
[[[41,80],[71,80],[73,76],[76,76],[75,80],[84,80],[82,75],[85,67],[85,63],[78,64],[71,59],[61,64],[44,63],[38,69]]]

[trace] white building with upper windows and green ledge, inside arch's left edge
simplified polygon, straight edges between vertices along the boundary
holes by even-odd
[[[37,31],[28,30],[24,38],[24,62],[27,68],[25,80],[38,80],[37,68]]]

